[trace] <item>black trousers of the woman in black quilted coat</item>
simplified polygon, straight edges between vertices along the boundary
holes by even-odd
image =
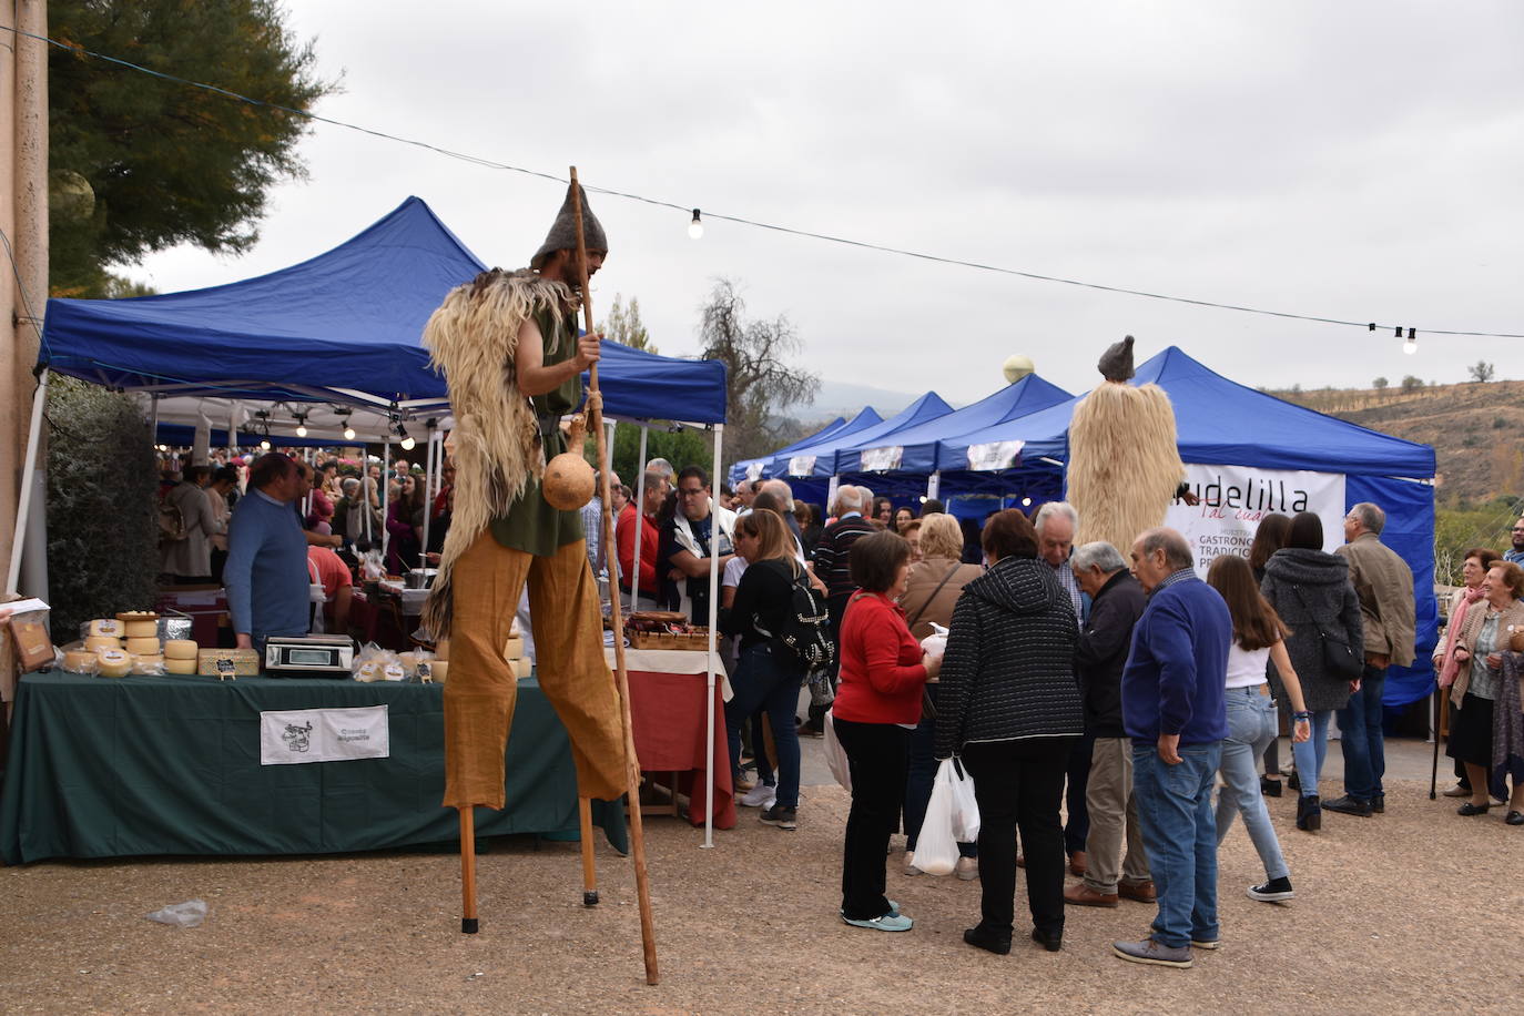
[[[1026,737],[963,745],[978,800],[980,928],[1010,937],[1017,908],[1017,829],[1027,870],[1032,925],[1064,932],[1064,826],[1059,801],[1076,737]],[[856,774],[852,774],[856,778]]]

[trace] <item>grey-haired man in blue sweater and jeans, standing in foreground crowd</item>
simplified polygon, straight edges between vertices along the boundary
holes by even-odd
[[[1233,618],[1192,570],[1190,544],[1151,529],[1132,544],[1132,574],[1149,605],[1122,672],[1122,722],[1132,739],[1132,794],[1158,891],[1141,941],[1113,951],[1131,963],[1189,967],[1190,949],[1218,947],[1218,829],[1212,783],[1228,734],[1224,687]]]

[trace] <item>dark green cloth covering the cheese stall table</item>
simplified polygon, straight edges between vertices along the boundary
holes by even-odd
[[[261,711],[386,705],[386,759],[261,765]],[[0,859],[302,855],[454,844],[443,685],[300,678],[93,678],[29,673],[17,689],[0,794]],[[565,728],[533,678],[518,682],[507,807],[479,836],[576,838]],[[622,806],[593,821],[626,848]]]

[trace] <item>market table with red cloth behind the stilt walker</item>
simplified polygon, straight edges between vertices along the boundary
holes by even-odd
[[[604,650],[614,666],[614,650]],[[709,653],[663,649],[626,649],[629,673],[629,717],[636,734],[636,756],[643,772],[660,777],[677,774],[674,792],[687,794],[687,820],[703,826],[704,781],[715,784],[715,829],[735,829],[736,803],[730,780],[730,748],[725,743],[725,699],[730,682],[722,670],[715,675],[715,749],[706,751],[707,713],[704,701],[709,681]]]

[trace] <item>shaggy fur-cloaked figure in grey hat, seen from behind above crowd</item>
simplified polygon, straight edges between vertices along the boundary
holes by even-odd
[[[1079,512],[1076,544],[1103,539],[1126,556],[1138,535],[1164,524],[1186,466],[1169,395],[1128,384],[1132,337],[1111,346],[1099,367],[1105,381],[1068,425],[1068,501]]]

